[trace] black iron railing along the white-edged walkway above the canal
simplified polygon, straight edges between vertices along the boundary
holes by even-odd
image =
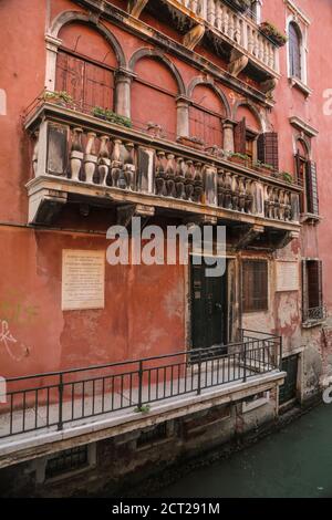
[[[144,412],[156,402],[246,382],[280,370],[281,351],[281,337],[241,330],[239,343],[196,350],[194,357],[186,351],[12,377],[7,381],[7,404],[0,408],[0,438],[61,430],[66,424],[127,408]]]

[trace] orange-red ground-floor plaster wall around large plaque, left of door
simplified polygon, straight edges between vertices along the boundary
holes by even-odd
[[[185,345],[183,267],[106,262],[105,309],[61,310],[62,249],[106,252],[104,236],[2,227],[0,342],[7,376],[178,352]]]

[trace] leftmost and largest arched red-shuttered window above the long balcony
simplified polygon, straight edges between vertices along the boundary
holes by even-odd
[[[55,90],[68,92],[83,112],[113,110],[117,60],[106,40],[82,23],[64,25],[59,38]]]

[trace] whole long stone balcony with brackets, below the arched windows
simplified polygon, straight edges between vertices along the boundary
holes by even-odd
[[[27,118],[34,142],[29,223],[50,225],[65,204],[114,207],[121,215],[174,216],[299,235],[301,188],[232,163],[218,148],[193,149],[42,102]]]

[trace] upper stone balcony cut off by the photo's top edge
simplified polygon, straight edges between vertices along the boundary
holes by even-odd
[[[276,86],[280,77],[278,46],[255,20],[246,15],[246,4],[241,0],[129,2],[132,15],[139,18],[143,9],[156,17],[168,17],[167,22],[176,24],[184,33],[183,42],[188,49],[194,50],[205,39],[226,60],[231,75],[238,76],[245,70],[266,92]]]

